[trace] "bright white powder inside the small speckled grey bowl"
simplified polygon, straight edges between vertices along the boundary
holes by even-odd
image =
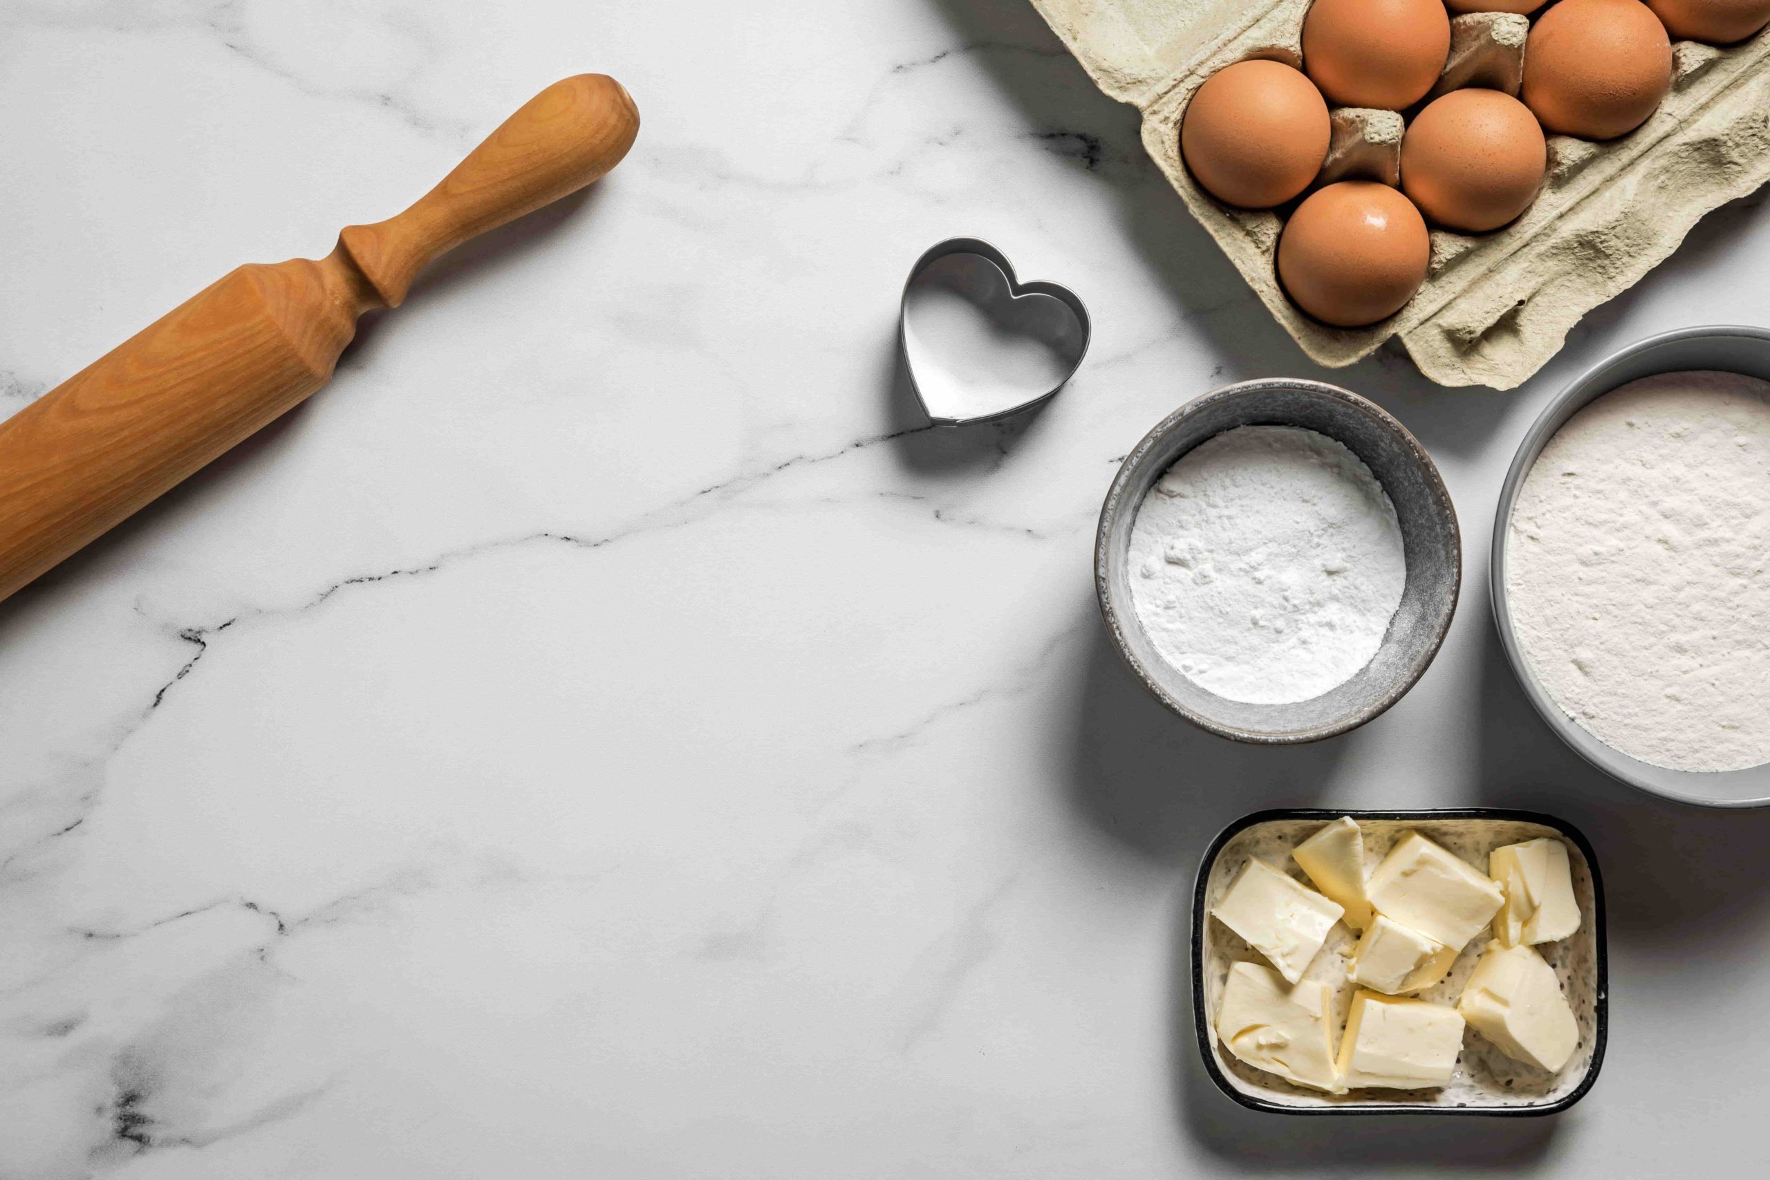
[[[1358,674],[1407,584],[1402,525],[1343,444],[1237,426],[1179,458],[1131,524],[1131,603],[1161,656],[1230,701],[1287,704]]]

